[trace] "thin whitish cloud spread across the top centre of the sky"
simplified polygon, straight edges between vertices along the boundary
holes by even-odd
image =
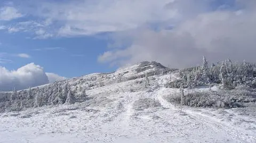
[[[63,22],[58,31],[60,36],[92,35],[133,29],[146,22],[173,18],[175,11],[164,9],[170,2],[173,0],[51,3],[45,4],[39,14]]]

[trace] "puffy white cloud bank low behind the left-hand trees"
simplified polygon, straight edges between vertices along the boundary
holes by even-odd
[[[48,74],[48,73],[47,73]],[[7,70],[3,66],[0,66],[0,90],[10,91],[15,86],[17,89],[25,89],[29,87],[35,87],[52,82],[53,77],[58,77],[57,74],[50,74],[47,77],[43,68],[34,63],[22,66],[17,70]],[[55,78],[59,79],[59,78]]]

